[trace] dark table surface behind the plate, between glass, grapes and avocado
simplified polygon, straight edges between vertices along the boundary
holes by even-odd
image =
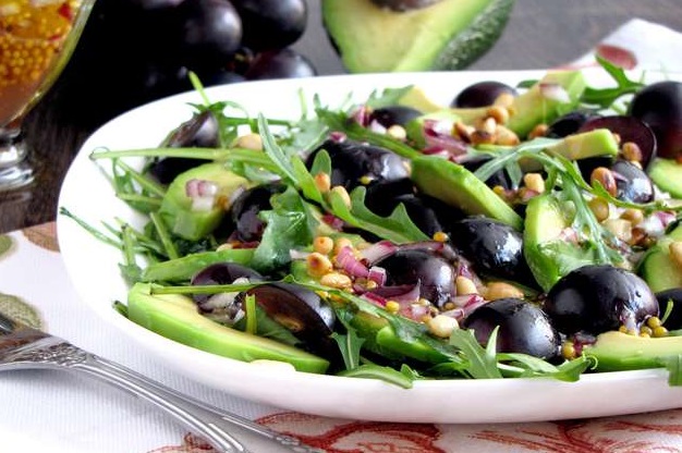
[[[322,0],[324,1],[324,0]],[[294,46],[312,60],[319,74],[344,69],[321,26],[319,2],[308,0],[306,34]],[[551,68],[584,54],[602,37],[630,19],[682,30],[680,0],[516,0],[509,24],[496,46],[471,70]],[[118,102],[117,74],[88,64],[96,39],[84,40],[50,93],[25,122],[36,182],[28,188],[0,194],[0,233],[56,218],[59,188],[81,144],[99,125],[133,105]],[[92,40],[89,40],[92,39]],[[111,38],[109,38],[111,40]],[[124,64],[118,66],[126,71]],[[87,81],[87,83],[84,83]]]

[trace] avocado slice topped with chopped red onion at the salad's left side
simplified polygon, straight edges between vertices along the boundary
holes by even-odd
[[[206,237],[226,215],[226,210],[219,205],[207,210],[192,209],[192,198],[185,193],[185,186],[187,181],[194,179],[216,183],[217,197],[229,197],[238,187],[248,187],[251,184],[228,170],[222,162],[204,163],[178,175],[168,186],[159,215],[174,234],[190,241]]]

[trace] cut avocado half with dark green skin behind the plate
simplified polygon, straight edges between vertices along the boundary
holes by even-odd
[[[324,0],[322,22],[352,73],[459,70],[500,37],[514,0],[440,0],[395,11],[372,0]]]

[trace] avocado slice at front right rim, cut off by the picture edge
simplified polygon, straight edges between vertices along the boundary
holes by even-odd
[[[597,359],[597,371],[662,368],[682,354],[682,336],[643,338],[609,331],[585,345],[583,353]]]

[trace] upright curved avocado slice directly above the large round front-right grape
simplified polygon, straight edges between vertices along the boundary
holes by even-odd
[[[526,206],[523,255],[533,277],[544,291],[573,269],[596,262],[594,250],[561,237],[571,226],[572,213],[550,194],[531,198]]]

